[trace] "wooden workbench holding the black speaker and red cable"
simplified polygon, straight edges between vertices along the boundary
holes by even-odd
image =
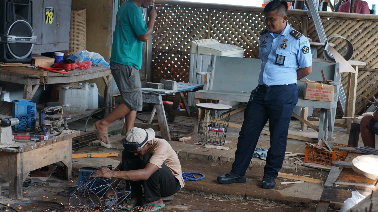
[[[1,67],[0,81],[23,84],[23,99],[31,100],[41,84],[73,83],[102,78],[105,83],[104,106],[112,106],[112,72],[109,67],[92,66],[90,69],[69,71],[68,74],[49,72],[19,66]],[[87,111],[77,119],[87,117],[93,111]]]

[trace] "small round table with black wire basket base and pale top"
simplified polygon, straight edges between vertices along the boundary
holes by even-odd
[[[226,104],[196,104],[198,143],[225,144],[231,106]]]

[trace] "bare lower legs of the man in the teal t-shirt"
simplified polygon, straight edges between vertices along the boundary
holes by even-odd
[[[96,121],[95,125],[96,125],[96,128],[97,128],[97,131],[98,132],[103,132],[103,133],[107,133],[108,132],[108,127],[109,125],[115,121],[115,120],[118,120],[124,116],[127,116],[130,112],[132,112],[132,110],[130,110],[125,104],[119,104],[110,114],[108,114],[105,118],[101,119],[101,120],[98,120]],[[136,111],[135,112],[135,115],[134,115],[134,120],[132,122],[132,126],[134,126],[134,122],[135,122],[135,116],[136,116]],[[131,117],[130,117],[131,119]],[[126,118],[126,123],[128,122],[127,118]],[[131,129],[131,128],[130,128]],[[106,141],[106,138],[104,136],[100,136],[100,139],[102,141],[104,141],[105,143],[107,143]]]

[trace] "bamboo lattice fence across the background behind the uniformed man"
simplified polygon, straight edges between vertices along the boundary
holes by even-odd
[[[244,57],[258,57],[260,32],[265,28],[263,8],[175,0],[156,0],[155,5],[158,16],[152,39],[152,82],[161,79],[189,82],[192,40],[214,38],[221,43],[242,47]],[[332,34],[346,37],[355,48],[353,59],[368,63],[358,74],[356,114],[360,114],[378,91],[375,84],[378,80],[378,39],[375,39],[378,16],[322,11],[319,15],[327,37]],[[289,10],[288,23],[318,41],[314,23],[307,12]],[[344,43],[337,44],[339,52],[345,50]],[[318,57],[322,57],[321,49]],[[343,78],[345,91],[346,76]]]

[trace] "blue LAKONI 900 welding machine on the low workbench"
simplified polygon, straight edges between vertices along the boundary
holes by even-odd
[[[14,126],[15,132],[28,132],[36,130],[36,103],[34,101],[19,99],[12,101],[13,117],[19,119]]]

